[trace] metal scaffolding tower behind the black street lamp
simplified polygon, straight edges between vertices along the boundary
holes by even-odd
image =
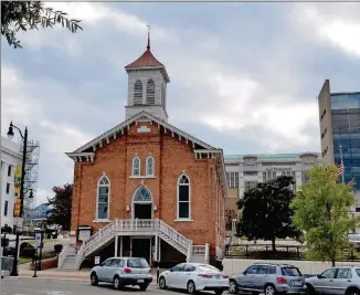
[[[21,144],[20,151],[22,154],[23,144]],[[36,203],[38,190],[38,171],[39,171],[40,143],[39,140],[28,140],[27,146],[27,161],[24,176],[24,202],[23,202],[23,225],[31,225],[32,220],[30,212],[34,209]],[[32,191],[33,198],[29,198]]]

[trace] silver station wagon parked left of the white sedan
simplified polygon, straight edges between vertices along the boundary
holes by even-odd
[[[151,268],[145,259],[140,257],[110,257],[100,265],[94,266],[91,273],[93,286],[99,282],[113,283],[114,288],[138,285],[146,291],[152,282]]]

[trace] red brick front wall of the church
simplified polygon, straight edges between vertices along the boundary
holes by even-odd
[[[142,127],[141,127],[142,126]],[[148,127],[148,133],[138,133]],[[135,122],[108,144],[95,151],[93,161],[76,161],[74,171],[72,230],[80,225],[92,225],[94,230],[105,226],[96,222],[97,182],[105,173],[110,181],[109,220],[131,219],[134,192],[141,185],[152,194],[158,218],[181,232],[193,244],[210,244],[211,256],[215,246],[223,246],[225,240],[224,201],[225,189],[216,158],[197,159],[193,146],[186,138],[173,136],[152,122]],[[141,160],[140,176],[131,177],[133,159]],[[145,177],[146,158],[155,160],[153,178]],[[177,183],[186,173],[190,179],[191,220],[177,221]],[[126,208],[129,206],[130,211]]]

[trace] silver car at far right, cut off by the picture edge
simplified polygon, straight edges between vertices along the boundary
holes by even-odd
[[[309,294],[360,295],[360,266],[330,267],[305,282]]]

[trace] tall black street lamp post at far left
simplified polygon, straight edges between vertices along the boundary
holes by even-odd
[[[25,179],[25,164],[27,164],[27,148],[28,148],[28,128],[25,127],[24,135],[22,135],[22,131],[20,128],[14,126],[12,122],[10,123],[9,126],[9,131],[8,131],[8,138],[11,140],[14,136],[13,134],[13,128],[15,128],[22,140],[23,140],[23,150],[22,150],[22,167],[21,167],[21,182],[20,182],[20,213],[19,218],[22,218],[22,212],[23,212],[23,204],[24,204],[24,179]],[[32,194],[32,192],[31,192]],[[20,240],[20,231],[17,229],[17,240],[15,240],[15,253],[13,257],[13,263],[12,263],[12,271],[10,273],[11,276],[19,276],[18,272],[18,252],[19,252],[19,241]]]

